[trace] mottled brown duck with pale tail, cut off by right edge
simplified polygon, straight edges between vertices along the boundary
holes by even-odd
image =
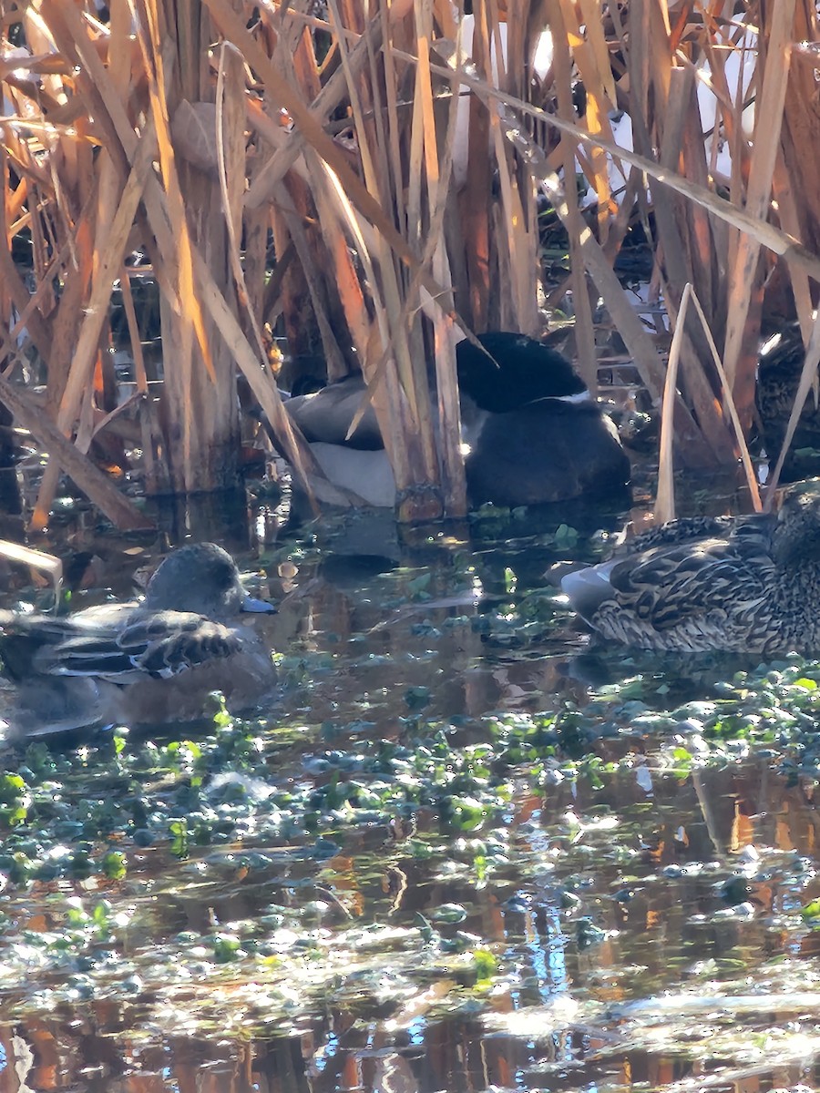
[[[634,648],[817,654],[820,487],[777,514],[671,520],[561,586],[595,634]]]

